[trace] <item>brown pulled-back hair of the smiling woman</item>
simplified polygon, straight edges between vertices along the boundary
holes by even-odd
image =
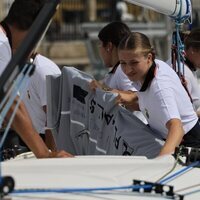
[[[124,37],[120,41],[118,49],[139,51],[139,53],[142,53],[144,56],[151,53],[153,60],[155,59],[155,51],[150,44],[149,38],[139,32],[132,32]]]

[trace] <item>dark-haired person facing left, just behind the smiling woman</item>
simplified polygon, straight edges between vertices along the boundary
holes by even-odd
[[[130,33],[129,27],[125,23],[118,21],[111,22],[100,30],[98,34],[100,55],[105,66],[111,70],[103,79],[103,84],[94,80],[90,83],[90,87],[92,89],[99,87],[106,91],[120,94],[121,101],[118,103],[123,104],[127,109],[131,106],[134,111],[137,110],[137,107],[134,108],[134,106],[137,106],[137,90],[122,71],[117,53],[117,47],[121,39]],[[145,124],[147,123],[141,112],[134,111],[133,113]]]

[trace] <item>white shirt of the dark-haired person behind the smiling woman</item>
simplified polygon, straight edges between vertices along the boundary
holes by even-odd
[[[104,84],[109,86],[110,88],[121,90],[121,91],[133,91],[137,90],[132,84],[132,81],[126,76],[126,74],[122,71],[121,65],[119,65],[114,73],[108,73],[104,80]],[[144,115],[140,111],[134,111],[133,114],[138,117],[141,121],[147,124],[147,121]]]

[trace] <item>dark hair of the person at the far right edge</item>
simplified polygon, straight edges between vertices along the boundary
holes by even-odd
[[[200,28],[194,29],[184,40],[185,49],[188,50],[190,47],[195,50],[200,50]]]

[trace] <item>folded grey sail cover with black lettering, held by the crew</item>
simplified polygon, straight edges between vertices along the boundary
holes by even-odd
[[[47,126],[58,149],[74,155],[157,156],[162,140],[116,105],[117,94],[91,91],[92,79],[73,67],[63,67],[60,76],[47,77]]]

